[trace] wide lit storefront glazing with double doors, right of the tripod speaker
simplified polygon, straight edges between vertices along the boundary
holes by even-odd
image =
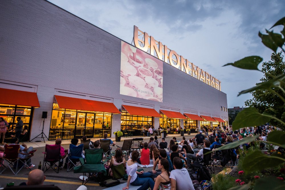
[[[84,110],[60,109],[54,103],[50,124],[49,140],[56,138],[72,139],[101,138],[104,133],[111,135],[112,114]]]

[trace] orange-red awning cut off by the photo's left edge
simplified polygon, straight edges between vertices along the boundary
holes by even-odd
[[[0,104],[40,107],[35,92],[0,88]]]

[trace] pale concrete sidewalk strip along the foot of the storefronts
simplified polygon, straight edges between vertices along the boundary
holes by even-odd
[[[187,135],[187,134],[184,134],[184,136],[186,137],[186,139],[187,139],[187,136],[195,136],[196,134],[194,134],[194,133],[192,133],[191,135]],[[177,136],[181,136],[180,134],[168,134],[168,136],[167,137],[177,137]],[[153,136],[154,137],[154,136]],[[134,136],[134,137],[132,137],[132,138],[125,138],[125,137],[121,137],[121,141],[123,141],[123,140],[126,140],[126,139],[133,139],[133,138],[144,138],[144,139],[149,139],[150,137],[142,137],[142,136]],[[160,136],[157,136],[157,138],[158,139],[160,139]],[[94,142],[94,141],[96,141],[96,140],[99,140],[99,139],[101,139],[101,138],[91,138],[91,141],[92,142]],[[110,138],[112,141],[115,141],[115,138]],[[55,143],[55,140],[51,140],[51,141],[46,141],[46,142],[44,142],[44,141],[41,141],[41,142],[24,142],[26,145],[27,145],[27,147],[30,147],[30,146],[32,146],[32,147],[34,147],[34,148],[37,148],[37,147],[44,147],[44,146],[46,146],[46,144],[54,144]],[[80,141],[79,141],[79,143],[80,143]],[[61,143],[62,145],[64,145],[64,144],[70,144],[70,139],[68,139],[68,140],[62,140],[62,143]]]

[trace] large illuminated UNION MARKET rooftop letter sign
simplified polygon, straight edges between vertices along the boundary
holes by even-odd
[[[208,72],[203,71],[203,69],[194,65],[188,59],[184,59],[182,55],[178,55],[176,51],[170,50],[166,45],[162,45],[161,42],[154,40],[152,36],[148,36],[148,33],[141,31],[137,26],[134,26],[134,43],[135,47],[205,82],[213,88],[221,90],[221,81],[211,76]]]

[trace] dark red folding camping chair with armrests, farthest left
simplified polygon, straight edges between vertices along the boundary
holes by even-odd
[[[32,156],[34,156],[34,152],[36,150],[32,150],[29,153],[21,153],[19,152],[20,150],[20,145],[19,144],[13,144],[13,145],[5,145],[5,152],[4,152],[4,156],[2,157],[2,159],[4,160],[4,162],[7,164],[8,167],[5,167],[5,169],[2,170],[2,168],[4,167],[3,164],[1,164],[1,169],[0,169],[0,173],[2,174],[7,168],[10,168],[11,171],[14,173],[14,175],[17,175],[19,173],[19,171],[21,171],[21,169],[26,166],[29,168],[29,166],[27,165],[27,161],[28,159],[30,159]],[[19,154],[22,155],[28,155],[25,158],[20,158]],[[20,163],[19,163],[20,161]],[[11,166],[14,166],[15,171],[11,168]],[[19,168],[18,168],[19,167]],[[29,168],[30,169],[30,168]],[[31,170],[31,169],[30,169]]]

